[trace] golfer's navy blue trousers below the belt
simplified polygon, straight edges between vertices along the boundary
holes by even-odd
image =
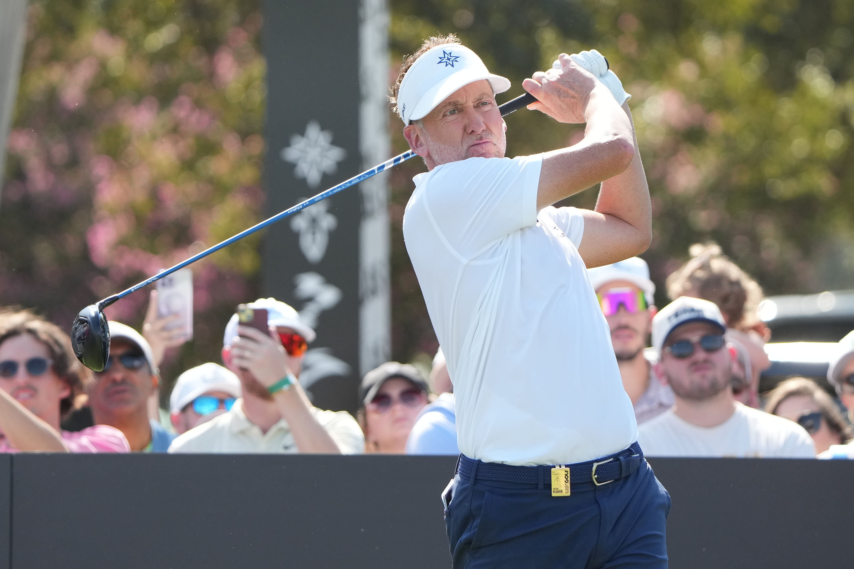
[[[664,569],[670,495],[641,460],[611,484],[545,487],[453,479],[445,525],[454,569]]]

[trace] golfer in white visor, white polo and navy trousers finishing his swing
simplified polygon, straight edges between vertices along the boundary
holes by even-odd
[[[666,567],[670,496],[587,277],[651,240],[629,96],[596,52],[556,67],[524,80],[529,108],[584,138],[514,159],[495,103],[510,82],[456,38],[424,42],[392,89],[429,170],[403,234],[456,396],[453,566]],[[600,182],[594,211],[552,206]]]

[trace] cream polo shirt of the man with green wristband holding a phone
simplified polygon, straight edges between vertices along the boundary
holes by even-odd
[[[347,411],[325,411],[312,407],[312,414],[330,434],[344,455],[365,451],[365,437],[359,423]],[[299,450],[288,421],[279,419],[266,433],[261,433],[243,412],[243,399],[237,399],[231,411],[192,428],[173,440],[169,452],[203,452],[226,454],[296,453]]]

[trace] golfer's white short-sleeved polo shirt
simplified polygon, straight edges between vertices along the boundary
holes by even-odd
[[[584,220],[537,212],[542,156],[470,158],[414,178],[403,235],[456,396],[459,450],[571,464],[637,438],[587,269]]]

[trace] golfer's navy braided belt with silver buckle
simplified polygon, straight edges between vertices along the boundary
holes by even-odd
[[[570,469],[571,484],[588,482],[600,486],[637,472],[642,458],[640,444],[633,443],[628,449],[616,455],[605,456],[598,461],[578,462],[564,466]],[[518,467],[500,462],[481,462],[465,455],[460,455],[457,462],[457,473],[463,479],[535,484],[540,488],[550,484],[552,468],[552,466]]]

